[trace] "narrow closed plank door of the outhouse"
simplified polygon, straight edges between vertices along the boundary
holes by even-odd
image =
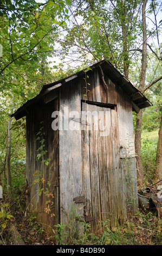
[[[115,109],[82,102],[82,178],[85,216],[94,231],[117,216],[118,118]],[[96,230],[97,229],[97,230]]]

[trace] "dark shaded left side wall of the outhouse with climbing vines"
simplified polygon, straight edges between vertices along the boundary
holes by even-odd
[[[58,101],[53,100],[48,104],[43,103],[37,106],[34,111],[31,111],[27,115],[27,181],[29,184],[29,193],[27,206],[34,215],[37,216],[38,220],[46,223],[46,229],[50,230],[50,227],[54,228],[54,224],[60,222],[60,212],[59,212],[59,141],[58,141],[58,131],[53,131],[51,129],[51,123],[53,119],[51,118],[51,113],[58,110]],[[41,123],[43,121],[43,123]],[[45,139],[43,150],[47,150],[45,156],[42,156],[39,161],[36,161],[36,156],[39,151],[37,149],[40,147],[41,143],[37,140],[37,133],[41,130],[44,135],[41,137]],[[43,159],[51,159],[49,165],[42,163]],[[45,179],[45,183],[34,185],[34,180],[38,177],[35,172],[40,171]],[[48,184],[50,182],[50,186]],[[44,188],[41,195],[38,194],[38,189]],[[49,192],[53,194],[54,198],[49,197],[51,201],[54,202],[50,206],[51,211],[49,214],[45,212],[47,208],[48,197],[44,194],[46,188]],[[53,217],[50,217],[53,214]]]

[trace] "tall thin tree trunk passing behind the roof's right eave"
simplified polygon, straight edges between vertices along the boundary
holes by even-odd
[[[146,3],[144,0],[142,4],[142,28],[143,28],[143,44],[142,44],[142,67],[141,67],[141,77],[138,89],[141,93],[144,91],[145,78],[146,78],[146,58],[147,58],[147,34],[146,34]],[[141,161],[141,131],[142,131],[142,110],[137,114],[136,130],[135,130],[135,153],[137,154],[137,176],[138,185],[142,185],[144,181],[144,170]]]

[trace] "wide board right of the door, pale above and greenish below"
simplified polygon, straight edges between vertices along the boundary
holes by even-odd
[[[120,143],[120,173],[122,175],[122,191],[124,216],[135,209],[131,205],[137,203],[137,174],[134,149],[134,127],[132,103],[128,95],[118,88],[118,126]],[[132,193],[132,196],[131,196]],[[135,199],[134,199],[135,198]],[[131,206],[131,208],[130,208]]]

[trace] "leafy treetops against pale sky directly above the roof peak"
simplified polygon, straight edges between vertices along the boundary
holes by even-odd
[[[74,8],[70,9],[73,28],[60,40],[65,58],[67,54],[70,56],[73,53],[73,60],[80,58],[85,63],[88,60],[108,59],[121,72],[124,70],[124,63],[128,68],[130,64],[134,64],[131,50],[140,44],[142,35],[139,19],[141,1],[81,0],[76,5],[75,3],[73,1]],[[87,53],[90,58],[86,58]],[[136,57],[138,52],[135,51],[134,54]]]

